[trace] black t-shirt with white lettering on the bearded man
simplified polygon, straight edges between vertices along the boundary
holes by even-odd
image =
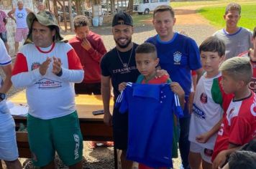
[[[119,51],[119,56],[122,60],[119,59],[116,47],[107,52],[101,59],[101,74],[104,77],[111,77],[115,99],[120,94],[118,85],[122,82],[136,82],[137,77],[140,74],[136,68],[135,62],[135,49],[137,47],[138,44],[134,43],[133,49],[130,49],[127,52]],[[131,58],[129,59],[130,56]],[[128,64],[128,66],[124,67],[123,64]]]

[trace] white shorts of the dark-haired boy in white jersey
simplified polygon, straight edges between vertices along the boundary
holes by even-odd
[[[203,148],[201,145],[191,142],[190,151],[192,153],[200,153],[201,158],[207,163],[211,163],[211,156],[214,153],[214,150]]]

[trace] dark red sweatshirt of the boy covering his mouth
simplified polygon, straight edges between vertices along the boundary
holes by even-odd
[[[104,43],[99,34],[95,34],[90,31],[86,39],[88,39],[88,42],[90,42],[92,47],[88,51],[81,46],[82,40],[78,37],[70,39],[69,43],[75,49],[83,66],[83,82],[98,83],[101,82],[101,69],[99,62],[101,61],[101,57],[106,54],[106,48],[104,47]]]

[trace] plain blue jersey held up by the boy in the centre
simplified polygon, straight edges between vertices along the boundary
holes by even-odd
[[[173,167],[173,112],[183,116],[170,84],[127,83],[116,100],[121,113],[129,110],[127,159],[152,168]]]

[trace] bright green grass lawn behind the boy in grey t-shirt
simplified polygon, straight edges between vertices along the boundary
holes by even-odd
[[[241,4],[242,13],[239,20],[239,26],[248,29],[253,29],[256,26],[256,2],[254,4]],[[223,15],[225,12],[224,6],[209,6],[198,9],[198,13],[204,16],[214,26],[221,28],[225,26]]]

